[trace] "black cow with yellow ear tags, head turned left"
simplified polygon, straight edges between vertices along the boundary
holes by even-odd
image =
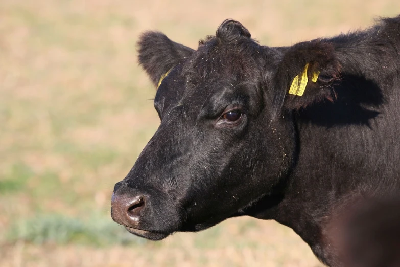
[[[274,219],[341,266],[343,214],[400,189],[400,16],[290,47],[230,19],[197,50],[159,32],[138,44],[161,124],[112,218],[152,240]]]

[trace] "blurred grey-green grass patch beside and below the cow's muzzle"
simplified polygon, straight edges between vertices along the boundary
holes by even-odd
[[[110,218],[92,216],[82,220],[60,214],[40,214],[21,219],[10,227],[6,240],[33,244],[84,244],[104,247],[143,244],[145,239],[129,234]]]

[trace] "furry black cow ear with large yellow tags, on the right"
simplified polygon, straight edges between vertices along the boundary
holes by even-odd
[[[336,94],[332,84],[339,72],[332,43],[317,39],[285,48],[270,84],[272,118],[282,109],[299,109],[324,99],[333,101]]]

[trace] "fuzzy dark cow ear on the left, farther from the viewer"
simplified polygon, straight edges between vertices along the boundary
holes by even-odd
[[[194,50],[160,32],[145,32],[138,41],[139,63],[157,86],[161,76],[190,57]]]

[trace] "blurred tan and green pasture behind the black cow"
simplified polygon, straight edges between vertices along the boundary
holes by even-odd
[[[137,37],[195,49],[234,18],[281,46],[399,13],[398,0],[0,0],[0,266],[321,266],[273,221],[151,242],[111,220],[113,185],[159,124]]]

